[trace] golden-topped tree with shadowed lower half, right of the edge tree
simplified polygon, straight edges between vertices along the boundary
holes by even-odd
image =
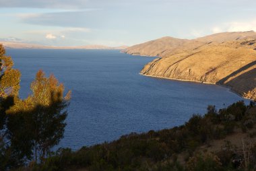
[[[38,151],[40,158],[44,158],[51,147],[57,145],[63,138],[65,118],[67,111],[63,111],[69,104],[71,92],[64,97],[64,86],[51,75],[44,76],[43,71],[38,71],[35,81],[31,84],[32,96],[28,100],[34,106],[32,114],[32,129],[34,137],[34,154],[37,161]]]

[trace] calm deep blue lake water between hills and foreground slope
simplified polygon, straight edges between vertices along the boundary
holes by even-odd
[[[61,147],[78,149],[131,132],[174,127],[203,114],[208,104],[221,108],[242,100],[220,86],[139,75],[152,58],[118,50],[9,49],[7,55],[22,71],[22,98],[38,69],[54,73],[72,90]]]

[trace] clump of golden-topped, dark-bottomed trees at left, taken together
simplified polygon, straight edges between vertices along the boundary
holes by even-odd
[[[22,100],[20,71],[0,44],[0,170],[18,168],[31,160],[42,161],[65,130],[71,92],[43,71],[31,83],[32,94]]]

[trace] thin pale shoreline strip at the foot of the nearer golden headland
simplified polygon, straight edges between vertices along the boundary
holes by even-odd
[[[241,97],[241,98],[244,98],[244,99],[247,99],[247,100],[252,100],[250,98],[245,98],[242,94],[239,94],[238,92],[235,92],[234,90],[232,90],[231,87],[229,86],[224,86],[220,83],[211,83],[211,82],[203,82],[203,81],[193,81],[193,80],[189,80],[189,79],[176,79],[176,78],[169,78],[169,77],[161,77],[161,76],[156,76],[156,75],[146,75],[146,74],[143,74],[143,73],[139,73],[139,75],[143,75],[143,76],[146,76],[146,77],[155,77],[155,78],[161,78],[161,79],[170,79],[170,80],[175,80],[175,81],[186,81],[186,82],[193,82],[193,83],[204,83],[204,84],[212,84],[212,85],[216,85],[216,86],[221,86],[223,88],[228,88],[228,90],[234,94],[236,94],[237,96]]]

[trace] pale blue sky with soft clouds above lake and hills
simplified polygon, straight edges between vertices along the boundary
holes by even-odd
[[[0,0],[0,40],[51,46],[139,44],[256,31],[255,0]]]

